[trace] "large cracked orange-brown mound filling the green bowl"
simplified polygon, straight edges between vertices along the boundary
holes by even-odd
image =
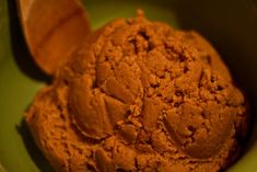
[[[141,14],[90,35],[26,114],[58,172],[217,172],[237,157],[246,118],[205,38]]]

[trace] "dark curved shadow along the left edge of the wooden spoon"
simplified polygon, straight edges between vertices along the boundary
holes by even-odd
[[[15,62],[19,69],[34,80],[50,82],[50,77],[45,74],[33,60],[32,55],[26,46],[21,23],[17,15],[17,4],[15,0],[8,1],[11,46]]]

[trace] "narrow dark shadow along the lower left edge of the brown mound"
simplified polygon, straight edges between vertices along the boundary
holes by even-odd
[[[40,150],[37,148],[36,144],[34,142],[34,139],[31,135],[30,129],[26,126],[26,122],[24,121],[24,118],[22,119],[21,124],[16,126],[16,130],[21,135],[28,154],[31,156],[32,160],[37,165],[39,171],[40,172],[55,172],[55,170],[51,168],[49,162],[46,160],[46,158],[43,156],[43,153],[40,152]]]

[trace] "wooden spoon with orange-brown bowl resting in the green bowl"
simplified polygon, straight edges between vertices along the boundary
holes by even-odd
[[[20,19],[31,54],[47,74],[69,57],[90,33],[79,0],[17,0]]]

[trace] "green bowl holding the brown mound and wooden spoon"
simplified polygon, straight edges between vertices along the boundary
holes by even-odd
[[[257,1],[85,0],[93,28],[141,8],[151,20],[196,30],[208,37],[250,103],[252,131],[242,157],[227,171],[257,172]],[[0,1],[0,172],[51,172],[23,121],[39,88],[49,82],[22,36],[15,0]]]

